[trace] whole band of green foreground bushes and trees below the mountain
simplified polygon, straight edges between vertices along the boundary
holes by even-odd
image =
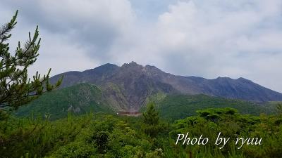
[[[202,134],[209,143],[175,145],[178,134],[187,132],[190,138]],[[231,138],[222,149],[213,143],[219,132]],[[233,142],[238,137],[262,138],[262,145],[243,145],[239,150]],[[142,117],[93,113],[69,114],[56,121],[9,117],[0,123],[0,142],[1,157],[275,158],[282,155],[282,117],[281,112],[257,117],[216,108],[171,124],[159,119],[154,105]]]

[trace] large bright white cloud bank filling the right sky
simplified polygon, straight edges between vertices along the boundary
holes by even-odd
[[[281,3],[214,0],[169,6],[140,46],[152,50],[141,60],[153,54],[168,72],[245,77],[282,91]]]

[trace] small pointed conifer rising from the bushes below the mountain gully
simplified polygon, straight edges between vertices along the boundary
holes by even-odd
[[[147,110],[143,112],[145,133],[151,137],[157,136],[159,131],[161,131],[161,124],[159,123],[159,112],[157,112],[154,103],[149,103],[147,105]]]

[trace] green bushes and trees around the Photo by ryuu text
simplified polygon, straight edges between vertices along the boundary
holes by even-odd
[[[231,138],[231,143],[221,150],[213,143],[204,146],[176,145],[176,149],[190,151],[193,157],[281,157],[281,117],[242,115],[231,108],[199,110],[197,113],[197,116],[176,121],[171,138],[177,138],[178,133],[189,132],[190,138],[202,134],[210,142],[215,142],[221,132],[224,137]],[[239,150],[234,142],[236,138],[262,138],[263,143],[244,145]],[[183,156],[178,154],[177,157]]]

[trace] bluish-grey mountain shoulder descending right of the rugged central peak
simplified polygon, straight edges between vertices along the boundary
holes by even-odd
[[[231,79],[228,77],[218,77],[217,79],[199,79],[199,77],[187,78],[195,81],[204,94],[211,96],[238,98],[259,102],[281,100],[281,93],[272,91],[269,88],[255,84],[242,77],[239,79]]]

